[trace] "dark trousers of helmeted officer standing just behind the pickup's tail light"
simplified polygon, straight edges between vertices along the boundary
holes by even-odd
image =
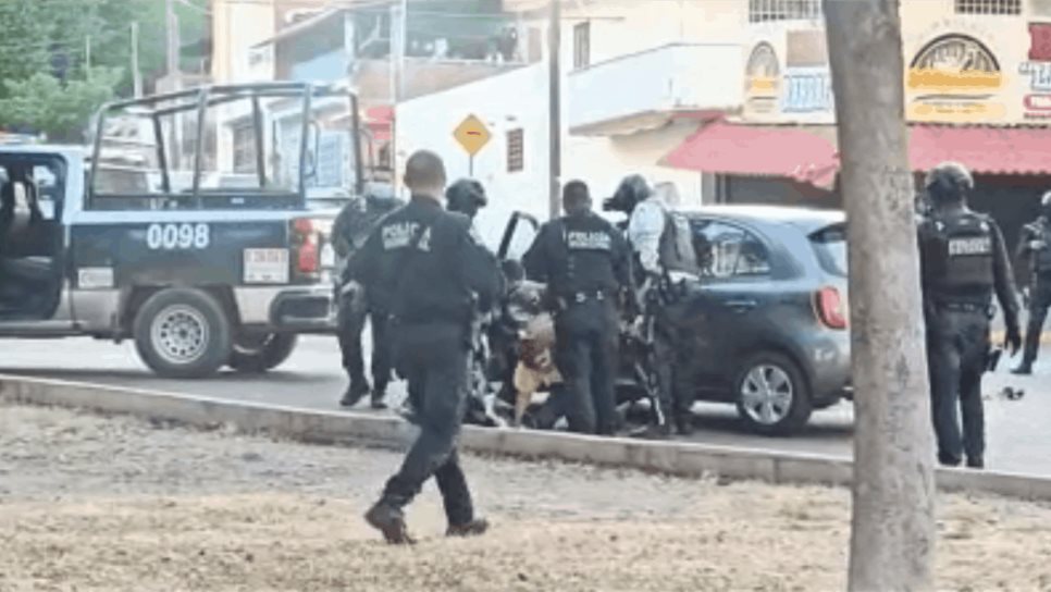
[[[390,316],[378,310],[355,310],[351,298],[339,299],[338,329],[339,353],[343,368],[353,381],[364,381],[364,351],[361,347],[361,333],[369,321],[372,330],[372,381],[376,391],[384,391],[391,382],[391,338],[387,328]]]

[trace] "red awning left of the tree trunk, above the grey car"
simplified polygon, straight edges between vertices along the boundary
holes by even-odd
[[[799,127],[709,123],[663,162],[677,169],[750,176],[781,176],[829,188],[839,156],[829,140]]]

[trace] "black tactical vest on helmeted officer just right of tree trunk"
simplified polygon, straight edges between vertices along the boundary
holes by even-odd
[[[939,260],[930,266],[932,284],[945,296],[991,294],[993,274],[993,230],[990,221],[974,212],[932,221]]]

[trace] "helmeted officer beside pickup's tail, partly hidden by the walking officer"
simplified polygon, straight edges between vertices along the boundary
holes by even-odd
[[[344,407],[354,407],[371,391],[372,408],[386,408],[383,399],[391,381],[391,346],[387,336],[390,311],[383,306],[384,303],[370,299],[362,286],[350,279],[350,266],[351,258],[380,220],[404,205],[393,195],[382,195],[378,188],[373,188],[364,199],[354,199],[347,203],[339,211],[332,227],[333,247],[343,264],[337,286],[339,294],[336,300],[336,335],[343,355],[343,368],[350,379],[347,391],[339,400],[339,405]],[[361,333],[367,320],[372,329],[372,387],[364,377],[361,347]]]

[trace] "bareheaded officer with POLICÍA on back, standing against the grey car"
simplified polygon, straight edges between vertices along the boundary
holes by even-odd
[[[527,274],[547,283],[555,308],[556,365],[570,398],[569,428],[613,434],[619,322],[617,299],[631,285],[620,231],[592,211],[580,181],[562,192],[566,215],[544,224],[522,258]]]

